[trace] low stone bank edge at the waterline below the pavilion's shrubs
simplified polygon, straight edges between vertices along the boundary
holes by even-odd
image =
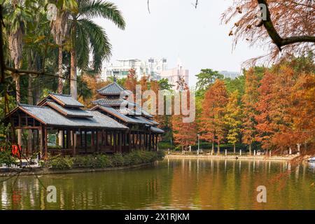
[[[113,170],[123,169],[136,169],[140,167],[149,167],[154,165],[155,162],[142,163],[138,165],[121,166],[121,167],[104,167],[104,168],[75,168],[75,169],[50,169],[41,167],[26,167],[25,170],[20,168],[6,168],[5,172],[0,171],[0,177],[16,176],[20,172],[19,176],[31,176],[31,175],[45,175],[45,174],[78,174],[78,173],[91,173],[91,172],[106,172]]]

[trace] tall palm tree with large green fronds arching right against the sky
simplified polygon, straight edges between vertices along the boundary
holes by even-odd
[[[78,11],[71,13],[71,69],[70,91],[77,99],[77,66],[81,71],[89,68],[92,50],[92,69],[95,73],[102,70],[102,62],[111,56],[111,43],[102,27],[93,18],[111,20],[120,29],[125,29],[125,20],[114,3],[96,0],[78,0]]]

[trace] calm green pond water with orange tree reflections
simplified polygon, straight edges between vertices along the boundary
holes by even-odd
[[[153,167],[0,178],[0,209],[315,209],[315,166],[165,159]],[[46,190],[57,188],[57,202]],[[14,186],[13,186],[14,185]],[[256,200],[267,188],[267,203]]]

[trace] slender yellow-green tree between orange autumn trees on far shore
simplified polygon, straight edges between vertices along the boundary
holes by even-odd
[[[235,90],[229,97],[224,116],[225,125],[228,127],[226,138],[228,139],[228,143],[233,145],[234,153],[236,153],[235,144],[239,139],[241,130],[241,106],[239,106],[238,98],[239,91]]]

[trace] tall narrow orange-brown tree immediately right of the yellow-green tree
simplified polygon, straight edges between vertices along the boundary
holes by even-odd
[[[242,141],[248,145],[249,153],[251,154],[251,147],[255,141],[255,104],[258,102],[258,87],[259,77],[255,69],[251,68],[245,72],[245,94],[241,97],[243,105],[243,119],[242,119]]]

